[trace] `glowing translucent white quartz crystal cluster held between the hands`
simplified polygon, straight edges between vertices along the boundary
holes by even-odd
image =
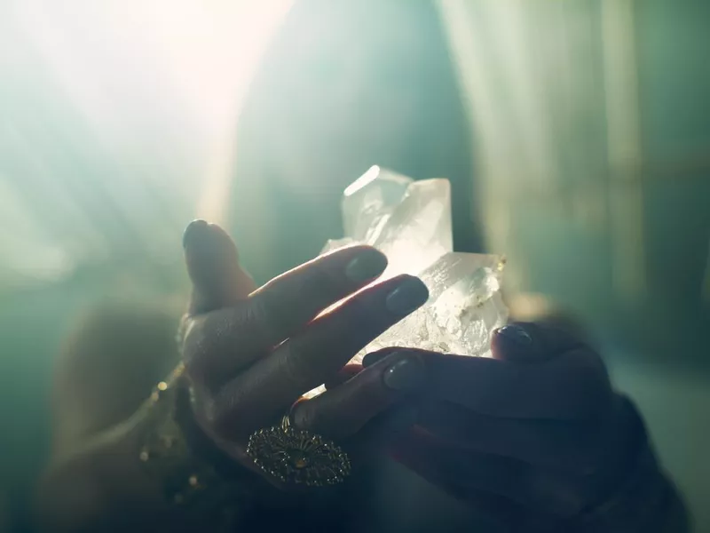
[[[386,346],[489,355],[493,330],[508,318],[500,291],[504,260],[454,252],[448,180],[414,181],[375,166],[345,189],[342,207],[345,238],[329,241],[324,252],[370,244],[389,259],[377,282],[414,274],[430,291],[424,306],[375,338],[353,362]]]

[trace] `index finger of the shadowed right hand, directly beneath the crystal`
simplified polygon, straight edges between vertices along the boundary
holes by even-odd
[[[609,377],[588,348],[536,364],[414,352],[430,373],[433,397],[482,415],[581,420],[603,417],[611,409]]]

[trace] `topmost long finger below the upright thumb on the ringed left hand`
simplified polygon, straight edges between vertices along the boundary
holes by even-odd
[[[223,383],[387,266],[383,253],[352,246],[282,274],[233,306],[198,317],[185,339],[195,374]],[[339,369],[335,369],[339,370]]]

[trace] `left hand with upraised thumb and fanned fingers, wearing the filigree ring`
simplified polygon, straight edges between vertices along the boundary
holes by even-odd
[[[241,465],[262,474],[246,453],[249,435],[277,424],[292,406],[294,426],[346,445],[417,386],[416,373],[412,379],[406,365],[412,358],[396,355],[294,405],[302,394],[338,379],[353,355],[428,298],[421,281],[402,275],[321,314],[382,274],[387,260],[379,251],[335,251],[255,290],[221,228],[195,221],[185,230],[184,245],[193,297],[183,357],[194,419]],[[409,372],[406,386],[397,379],[402,372]]]

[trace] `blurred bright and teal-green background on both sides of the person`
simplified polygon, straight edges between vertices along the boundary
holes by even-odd
[[[0,0],[7,529],[28,528],[76,315],[185,298],[182,229],[225,217],[241,105],[291,4]],[[516,306],[554,302],[599,339],[710,531],[710,3],[438,9],[473,132],[476,231],[508,256]]]

